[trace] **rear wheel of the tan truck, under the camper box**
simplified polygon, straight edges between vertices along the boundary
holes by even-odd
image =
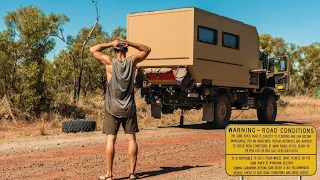
[[[212,126],[224,129],[230,122],[231,105],[227,96],[221,95],[214,103],[214,120]]]

